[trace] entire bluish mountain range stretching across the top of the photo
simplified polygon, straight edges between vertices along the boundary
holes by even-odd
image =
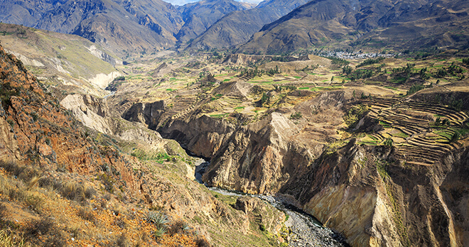
[[[72,33],[122,58],[170,48],[468,48],[466,0],[4,0],[0,21]]]

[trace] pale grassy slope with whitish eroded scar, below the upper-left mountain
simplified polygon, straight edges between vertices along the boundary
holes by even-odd
[[[77,35],[0,23],[1,44],[14,53],[51,91],[104,96],[104,88],[120,73],[116,55]],[[111,54],[111,55],[109,55]]]

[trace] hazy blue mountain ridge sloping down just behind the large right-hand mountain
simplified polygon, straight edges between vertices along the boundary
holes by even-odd
[[[245,43],[262,26],[276,21],[306,2],[308,1],[269,0],[263,1],[254,9],[234,11],[210,26],[205,33],[193,40],[188,48],[209,50]]]

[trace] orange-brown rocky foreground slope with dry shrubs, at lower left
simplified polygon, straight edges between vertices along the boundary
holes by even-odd
[[[230,207],[175,141],[112,119],[105,99],[70,95],[68,111],[3,48],[0,65],[2,246],[279,245],[285,214]]]

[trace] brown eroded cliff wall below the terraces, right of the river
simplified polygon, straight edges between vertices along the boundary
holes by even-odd
[[[227,86],[213,89],[214,94],[222,87]],[[268,111],[249,124],[207,116],[203,111],[209,106],[201,101],[158,131],[211,158],[203,175],[208,185],[289,195],[352,246],[463,246],[468,231],[465,141],[444,149],[434,163],[423,163],[404,155],[405,145],[365,146],[341,138],[349,104],[356,103],[352,92],[289,95],[301,95],[303,102]],[[406,104],[423,103],[409,99]],[[293,111],[302,118],[288,117]],[[375,117],[365,114],[357,128],[379,131]]]

